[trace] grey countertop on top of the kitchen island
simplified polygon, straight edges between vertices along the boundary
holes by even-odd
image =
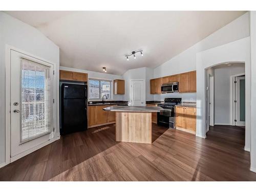
[[[104,111],[116,111],[116,112],[160,112],[164,110],[160,106],[109,106],[104,108]]]

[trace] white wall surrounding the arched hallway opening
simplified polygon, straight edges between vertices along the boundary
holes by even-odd
[[[197,53],[197,136],[205,138],[205,69],[224,62],[245,62],[245,150],[250,150],[250,37]]]

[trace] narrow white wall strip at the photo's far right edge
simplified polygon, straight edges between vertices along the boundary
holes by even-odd
[[[250,11],[251,44],[251,170],[256,172],[256,11]]]

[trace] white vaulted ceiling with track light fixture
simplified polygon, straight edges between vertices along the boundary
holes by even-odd
[[[6,11],[60,48],[60,65],[121,75],[157,67],[244,11]],[[143,50],[136,59],[125,54]]]

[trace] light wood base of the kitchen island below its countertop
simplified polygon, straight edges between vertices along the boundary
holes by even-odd
[[[152,143],[151,113],[116,112],[116,141]]]

